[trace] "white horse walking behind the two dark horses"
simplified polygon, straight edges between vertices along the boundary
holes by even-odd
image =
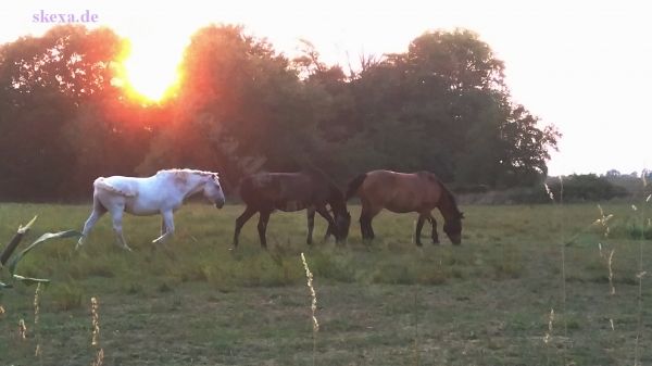
[[[161,236],[152,242],[165,242],[174,234],[173,212],[181,206],[188,197],[202,191],[217,209],[224,205],[224,192],[220,187],[217,173],[193,169],[159,171],[148,178],[113,176],[100,177],[92,184],[92,213],[84,225],[77,249],[84,244],[86,237],[98,219],[106,212],[113,218],[113,230],[120,244],[131,250],[122,231],[123,213],[147,216],[160,213]]]

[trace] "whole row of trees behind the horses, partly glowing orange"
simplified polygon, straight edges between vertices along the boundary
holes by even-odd
[[[457,187],[532,185],[560,134],[513,102],[504,64],[473,31],[427,31],[404,53],[289,59],[240,26],[191,38],[180,84],[160,104],[115,83],[125,50],[109,28],[58,26],[0,46],[0,199],[87,197],[98,176],[166,167],[430,171]]]

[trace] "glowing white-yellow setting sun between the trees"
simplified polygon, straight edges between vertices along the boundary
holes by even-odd
[[[160,33],[128,36],[115,84],[133,99],[162,103],[178,87],[179,65],[187,43],[188,38],[171,38]]]

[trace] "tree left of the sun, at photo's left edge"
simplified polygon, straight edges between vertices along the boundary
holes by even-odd
[[[0,47],[0,195],[61,197],[75,167],[63,138],[77,109],[111,88],[118,38],[59,26]]]

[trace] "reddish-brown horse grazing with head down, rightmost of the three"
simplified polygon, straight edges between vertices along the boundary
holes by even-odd
[[[362,238],[374,239],[372,219],[383,209],[396,213],[418,213],[416,244],[421,245],[421,231],[427,219],[432,224],[432,242],[439,243],[437,222],[430,211],[437,207],[443,216],[443,231],[454,244],[462,242],[462,218],[455,198],[443,184],[429,172],[414,174],[374,171],[361,174],[349,182],[347,200],[358,195],[362,202],[360,229]]]

